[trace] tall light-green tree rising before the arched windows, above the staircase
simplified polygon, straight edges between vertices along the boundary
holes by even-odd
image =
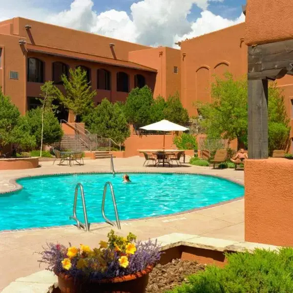
[[[65,74],[62,76],[65,95],[59,91],[61,102],[74,113],[74,121],[77,117],[86,115],[94,106],[93,98],[97,95],[95,90],[87,83],[86,71],[81,67],[75,70],[69,69],[69,79]]]

